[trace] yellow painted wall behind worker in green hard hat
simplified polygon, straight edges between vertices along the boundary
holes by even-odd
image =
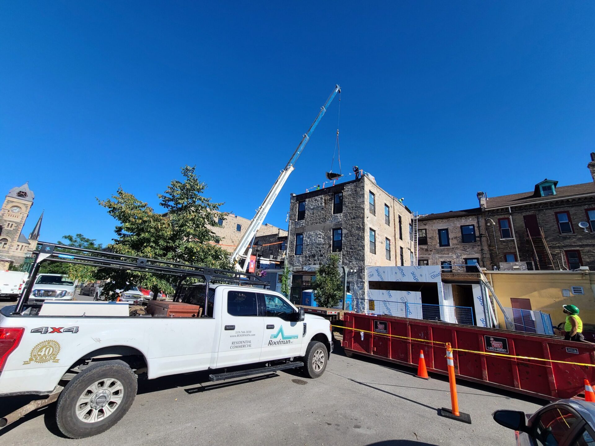
[[[574,271],[485,271],[496,296],[504,307],[511,307],[511,297],[531,300],[531,309],[549,313],[553,325],[564,322],[562,305],[574,304],[585,329],[595,329],[595,272]],[[562,290],[583,287],[583,295],[562,297]],[[504,316],[496,306],[500,328],[506,328]]]

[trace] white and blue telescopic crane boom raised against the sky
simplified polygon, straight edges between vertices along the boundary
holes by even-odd
[[[233,250],[233,253],[231,253],[231,261],[232,262],[236,262],[238,257],[240,255],[242,255],[242,253],[246,250],[246,248],[250,244],[250,241],[252,241],[252,239],[255,237],[256,232],[261,227],[262,222],[264,221],[265,217],[267,216],[269,209],[271,209],[271,206],[273,206],[275,199],[277,198],[281,189],[283,189],[283,185],[287,181],[287,178],[289,178],[289,175],[293,172],[293,169],[294,169],[293,166],[295,165],[297,158],[299,158],[299,156],[302,154],[304,147],[306,147],[306,144],[308,144],[308,141],[310,140],[312,133],[314,133],[314,130],[316,129],[318,123],[320,123],[320,120],[322,119],[324,114],[327,112],[328,106],[333,101],[333,99],[337,95],[337,93],[340,93],[340,92],[341,92],[341,87],[339,87],[339,85],[336,85],[334,87],[333,92],[330,94],[330,96],[328,96],[327,101],[321,107],[320,112],[318,112],[318,116],[316,117],[316,119],[314,120],[312,125],[310,125],[310,128],[308,129],[308,131],[303,135],[302,140],[300,141],[299,145],[295,149],[295,152],[293,152],[292,157],[289,159],[289,161],[287,162],[287,165],[279,174],[277,181],[275,181],[275,183],[273,184],[273,187],[271,187],[271,190],[268,191],[268,194],[265,197],[264,201],[262,202],[262,205],[260,205],[260,207],[256,210],[256,215],[254,216],[252,221],[250,221],[248,230],[246,230],[246,232],[240,239],[239,243],[237,244],[236,248]],[[250,249],[250,252],[248,253],[248,256],[246,257],[246,264],[249,262],[251,252],[252,252],[252,249]],[[241,268],[237,264],[236,264],[236,268],[239,269],[240,271],[245,270],[245,267]]]

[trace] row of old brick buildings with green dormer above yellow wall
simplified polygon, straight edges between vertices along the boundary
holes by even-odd
[[[589,183],[558,186],[546,178],[527,192],[478,192],[478,208],[421,216],[419,264],[595,269],[595,153],[587,167]]]

